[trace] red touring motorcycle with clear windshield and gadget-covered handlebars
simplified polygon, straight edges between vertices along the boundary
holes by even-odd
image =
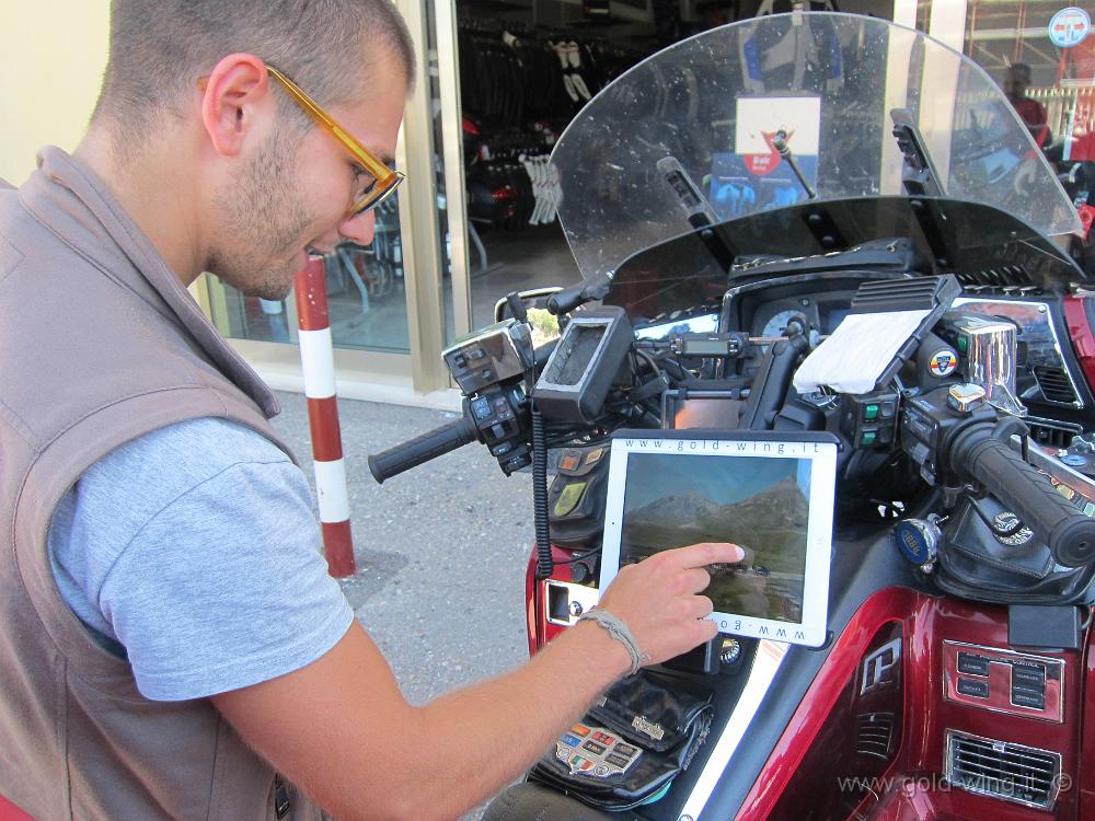
[[[463,415],[370,456],[377,481],[473,441],[531,467],[530,654],[635,558],[627,482],[677,505],[677,537],[788,523],[712,568],[737,621],[647,682],[704,716],[656,789],[621,785],[661,729],[595,705],[486,818],[1095,818],[1095,294],[1000,89],[920,32],[772,15],[623,74],[552,170],[583,281],[446,349]],[[707,463],[621,478],[655,441],[833,456],[783,496],[724,483],[712,516]]]

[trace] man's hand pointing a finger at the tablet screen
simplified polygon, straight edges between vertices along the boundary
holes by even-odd
[[[718,628],[706,618],[711,599],[700,594],[711,582],[705,568],[744,557],[740,547],[723,542],[656,553],[621,567],[600,606],[627,625],[648,663],[657,664],[715,637]]]

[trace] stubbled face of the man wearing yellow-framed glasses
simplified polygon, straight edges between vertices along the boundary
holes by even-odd
[[[389,159],[407,86],[394,59],[384,57],[377,56],[370,69],[366,99],[330,114],[373,154]],[[316,126],[301,137],[291,127],[275,127],[218,192],[221,219],[209,269],[247,296],[285,299],[310,248],[328,252],[343,239],[372,242],[372,211],[346,219],[359,185],[354,158],[326,129]]]

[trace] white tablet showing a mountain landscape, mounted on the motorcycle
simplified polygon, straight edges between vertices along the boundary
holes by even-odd
[[[659,551],[733,542],[745,559],[707,568],[719,632],[820,647],[835,478],[825,432],[616,431],[600,587]]]

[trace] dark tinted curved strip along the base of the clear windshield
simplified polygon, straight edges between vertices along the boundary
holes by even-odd
[[[807,203],[718,228],[733,230],[739,259],[768,258],[773,266],[775,259],[788,261],[787,265],[809,268],[814,276],[839,267],[871,269],[879,277],[955,271],[967,287],[1016,290],[1060,289],[1083,276],[1050,240],[1031,235],[1014,216],[991,206],[953,200],[933,200],[930,206],[938,224],[945,227],[941,235],[946,253],[941,262],[924,235],[914,201],[921,200],[873,197]],[[827,223],[841,227],[839,244],[833,244],[831,232],[817,230]],[[858,256],[866,256],[856,250],[872,250],[879,238],[908,238],[901,243],[911,243],[911,247],[907,255],[891,254],[888,265],[879,265],[873,257],[856,263]],[[642,325],[675,311],[702,312],[718,304],[727,287],[772,276],[763,263],[735,266],[727,273],[700,234],[690,233],[624,261],[604,301],[623,307],[632,322]]]

